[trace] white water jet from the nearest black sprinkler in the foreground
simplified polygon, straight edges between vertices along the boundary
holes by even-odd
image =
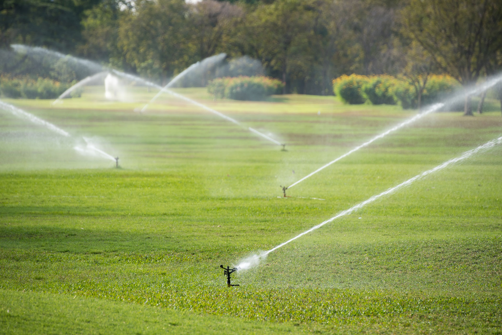
[[[313,232],[314,230],[319,229],[322,226],[324,226],[325,224],[330,223],[331,221],[334,221],[334,220],[336,220],[338,218],[341,218],[342,216],[349,215],[350,213],[352,213],[352,212],[354,212],[354,211],[356,211],[356,210],[358,210],[360,208],[363,208],[364,206],[366,206],[367,204],[370,204],[370,203],[374,202],[375,200],[378,200],[378,199],[380,199],[380,198],[382,198],[382,197],[384,197],[386,195],[393,194],[394,192],[398,191],[399,189],[402,189],[405,186],[409,186],[413,182],[418,181],[418,180],[420,180],[420,179],[422,179],[422,178],[424,178],[424,177],[426,177],[426,176],[428,176],[430,174],[433,174],[433,173],[435,173],[435,172],[437,172],[439,170],[442,170],[442,169],[446,168],[449,165],[455,164],[455,163],[457,163],[457,162],[459,162],[461,160],[469,158],[470,156],[472,156],[475,153],[478,153],[478,152],[481,152],[481,151],[485,151],[485,150],[487,150],[489,148],[492,148],[493,146],[499,145],[499,144],[502,144],[502,136],[500,136],[498,138],[495,138],[495,139],[493,139],[491,141],[488,141],[488,142],[486,142],[486,143],[484,143],[482,145],[479,145],[475,149],[471,149],[471,150],[465,151],[460,156],[452,158],[450,160],[447,160],[444,163],[436,166],[434,169],[427,170],[427,171],[425,171],[425,172],[423,172],[423,173],[421,173],[421,174],[419,174],[419,175],[417,175],[417,176],[415,176],[413,178],[410,178],[406,182],[403,182],[403,183],[401,183],[401,184],[399,184],[399,185],[397,185],[395,187],[392,187],[392,188],[388,189],[387,191],[384,191],[384,192],[382,192],[382,193],[380,193],[380,194],[378,194],[376,196],[372,196],[371,198],[369,198],[369,199],[367,199],[367,200],[365,200],[365,201],[363,201],[361,203],[358,203],[357,205],[354,205],[354,206],[350,207],[349,209],[347,209],[345,211],[342,211],[342,212],[338,213],[334,217],[332,217],[332,218],[330,218],[330,219],[328,219],[326,221],[321,222],[320,224],[318,224],[318,225],[316,225],[316,226],[314,226],[314,227],[312,227],[312,228],[304,231],[301,234],[298,234],[297,236],[295,236],[295,237],[287,240],[286,242],[283,242],[283,243],[279,244],[278,246],[276,246],[276,247],[274,247],[274,248],[272,248],[272,249],[270,249],[268,251],[264,251],[264,252],[262,252],[259,255],[253,255],[253,256],[247,257],[247,258],[243,259],[239,263],[239,265],[236,266],[236,268],[244,270],[244,269],[249,269],[251,267],[257,266],[260,263],[260,261],[262,259],[266,258],[267,255],[270,254],[272,251],[275,251],[275,250],[277,250],[277,249],[285,246],[286,244],[288,244],[288,243],[290,243],[290,242],[292,242],[292,241],[294,241],[296,239],[299,239],[303,235],[306,235],[306,234],[308,234],[310,232]]]

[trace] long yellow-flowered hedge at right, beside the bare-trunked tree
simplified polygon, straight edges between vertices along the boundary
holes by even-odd
[[[422,93],[421,104],[446,99],[460,85],[447,75],[431,75]],[[373,105],[399,103],[404,109],[417,108],[418,95],[413,85],[392,76],[361,76],[352,74],[333,79],[333,91],[344,103]]]

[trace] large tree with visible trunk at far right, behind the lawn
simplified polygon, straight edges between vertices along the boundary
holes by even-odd
[[[440,70],[464,87],[477,81],[502,47],[499,0],[411,0],[402,15],[410,37],[430,53]],[[472,115],[468,95],[464,115]]]

